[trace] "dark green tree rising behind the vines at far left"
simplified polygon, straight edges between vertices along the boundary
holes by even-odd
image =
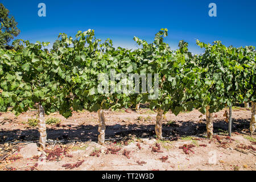
[[[11,49],[12,47],[8,45],[14,36],[19,35],[19,28],[17,28],[17,22],[13,16],[9,15],[9,10],[0,3],[0,48]]]

